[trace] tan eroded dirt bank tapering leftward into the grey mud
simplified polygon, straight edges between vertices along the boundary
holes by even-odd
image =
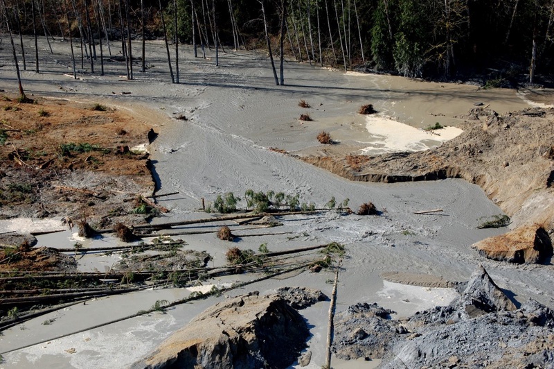
[[[554,110],[528,108],[501,116],[474,108],[462,135],[418,153],[302,157],[350,180],[407,182],[463,178],[483,188],[515,227],[554,230]],[[440,130],[436,130],[440,134]]]

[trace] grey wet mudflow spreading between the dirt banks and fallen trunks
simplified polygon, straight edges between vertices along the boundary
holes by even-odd
[[[30,44],[31,40],[26,42]],[[373,103],[378,114],[408,124],[412,129],[425,128],[437,121],[443,126],[458,126],[461,119],[456,117],[465,114],[476,102],[490,103],[490,108],[498,112],[528,106],[514,91],[481,90],[474,86],[393,76],[357,76],[293,62],[285,67],[286,85],[276,87],[265,55],[244,51],[223,53],[220,67],[215,67],[213,60],[191,58],[192,51],[188,48],[181,59],[184,83],[172,85],[161,57],[165,52],[161,42],[148,44],[150,68],[144,74],[137,72],[135,80],[120,78],[123,63],[114,61],[107,63],[106,76],[80,74],[79,80],[73,80],[64,76],[71,64],[66,56],[67,46],[66,42],[53,43],[55,56],[44,58],[43,68],[48,73],[24,71],[24,88],[28,94],[76,101],[93,97],[112,108],[125,110],[159,132],[149,147],[157,189],[159,193],[177,191],[179,194],[160,201],[171,211],[154,219],[154,223],[202,218],[206,214],[197,212],[202,198],[212,202],[218,194],[227,191],[242,197],[250,188],[298,194],[301,200],[314,202],[318,207],[328,203],[331,196],[337,201],[349,198],[352,208],[371,201],[381,215],[323,212],[313,216],[285,216],[278,219],[283,223],[278,232],[289,234],[244,237],[235,245],[258,250],[260,243],[267,243],[269,250],[280,251],[329,241],[343,243],[347,253],[341,264],[337,311],[359,302],[377,302],[384,309],[406,316],[432,304],[446,305],[455,295],[454,289],[407,289],[384,282],[381,274],[404,272],[465,281],[480,263],[497,285],[508,291],[517,306],[533,297],[554,307],[551,265],[505,264],[485,259],[470,248],[477,241],[506,232],[506,228],[476,229],[480,217],[502,214],[476,185],[455,179],[398,184],[351,182],[290,155],[269,150],[278,148],[296,155],[357,154],[368,147],[365,143],[376,142],[375,135],[367,129],[366,118],[357,114],[363,104]],[[41,53],[46,55],[44,50]],[[136,55],[139,55],[138,49]],[[0,88],[13,90],[13,68],[6,50],[1,58],[4,66],[0,68]],[[301,98],[312,106],[307,112],[314,121],[297,120],[305,112],[298,107]],[[186,121],[175,119],[181,114],[186,116]],[[316,135],[321,130],[328,130],[338,144],[319,144]],[[382,140],[383,145],[386,142]],[[425,142],[429,148],[440,145],[441,141]],[[406,145],[395,141],[389,146],[406,149]],[[436,208],[443,212],[413,214]],[[238,225],[226,223],[233,233],[239,233],[235,231]],[[215,227],[202,229],[217,230]],[[70,237],[64,233],[44,240],[71,247]],[[228,241],[217,239],[213,233],[194,234],[184,239],[188,243],[186,248],[206,250],[213,255],[213,265],[226,262],[224,253],[229,248]],[[112,240],[92,242],[107,241]],[[39,246],[41,242],[39,237]],[[103,266],[111,268],[111,262],[104,260]],[[96,267],[93,265],[91,262],[87,268]],[[221,277],[206,281],[206,286],[255,277],[249,273]],[[327,281],[332,277],[330,271],[289,274],[226,294],[232,297],[260,291],[263,295],[280,286],[305,286],[330,295],[332,285]],[[428,294],[421,289],[427,289]],[[96,326],[148,309],[157,300],[175,301],[189,294],[187,289],[164,289],[99,298],[12,327],[0,336],[0,351],[10,351],[3,353],[6,361],[3,367],[128,367],[201,311],[224,300],[226,295],[181,304],[166,314],[149,314]],[[301,311],[312,335],[307,341],[306,351],[311,352],[307,368],[320,368],[324,363],[328,308],[328,302],[322,301]],[[43,325],[48,319],[55,321]],[[72,334],[78,331],[82,332]]]

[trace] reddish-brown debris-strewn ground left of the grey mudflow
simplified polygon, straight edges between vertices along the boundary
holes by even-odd
[[[134,215],[154,190],[150,126],[97,103],[0,101],[0,218],[69,216],[106,227]]]

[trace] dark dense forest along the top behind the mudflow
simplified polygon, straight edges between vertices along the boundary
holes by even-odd
[[[118,47],[127,55],[131,41],[165,38],[174,58],[183,42],[194,44],[198,57],[206,48],[264,48],[272,65],[274,55],[287,55],[409,77],[481,76],[490,85],[533,83],[553,70],[554,0],[1,0],[1,6],[4,33],[9,29],[20,58],[27,53],[31,60],[33,50],[21,50],[17,35],[71,37],[87,60],[102,43],[103,52]]]

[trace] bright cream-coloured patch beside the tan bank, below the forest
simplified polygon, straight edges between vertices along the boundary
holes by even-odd
[[[363,154],[383,154],[400,151],[424,151],[440,146],[460,135],[463,130],[445,127],[440,130],[422,130],[387,117],[366,117],[366,128],[371,135]]]

